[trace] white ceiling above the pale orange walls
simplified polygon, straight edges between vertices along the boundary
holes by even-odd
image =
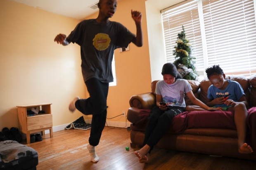
[[[85,19],[87,16],[98,12],[98,9],[91,9],[92,5],[99,0],[12,0],[31,7],[43,9],[48,12],[68,16],[75,19]],[[118,2],[121,0],[118,0]],[[177,4],[183,0],[147,0],[157,9],[161,10],[168,6]],[[136,5],[134,9],[136,8]]]

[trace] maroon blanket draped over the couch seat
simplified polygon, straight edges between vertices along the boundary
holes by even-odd
[[[149,109],[141,110],[139,116],[141,116],[142,119],[133,124],[135,126],[145,125],[149,113]],[[189,128],[236,129],[234,112],[219,110],[183,112],[173,118],[168,131],[177,134]],[[248,109],[247,142],[256,150],[256,107]]]

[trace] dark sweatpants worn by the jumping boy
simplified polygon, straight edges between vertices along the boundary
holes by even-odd
[[[107,95],[109,83],[102,83],[96,78],[91,78],[85,82],[90,97],[77,100],[76,109],[85,115],[92,114],[92,124],[89,143],[97,146],[100,142],[102,130],[107,118]]]

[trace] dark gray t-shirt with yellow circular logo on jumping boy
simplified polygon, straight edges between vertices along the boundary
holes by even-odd
[[[97,78],[101,82],[113,82],[112,59],[116,48],[127,47],[135,35],[121,23],[109,21],[97,23],[88,19],[78,23],[67,37],[81,47],[83,79]]]

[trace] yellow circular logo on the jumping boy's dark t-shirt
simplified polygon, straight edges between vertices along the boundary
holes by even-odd
[[[98,33],[93,38],[93,45],[99,51],[103,51],[103,50],[107,49],[109,47],[110,42],[111,42],[111,40],[110,40],[109,35],[104,34],[104,33]]]

